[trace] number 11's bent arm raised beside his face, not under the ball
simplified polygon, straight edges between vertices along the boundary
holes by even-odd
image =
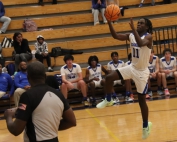
[[[136,42],[138,44],[139,47],[142,47],[142,46],[147,46],[148,48],[152,48],[152,35],[151,34],[148,34],[147,36],[145,36],[144,39],[141,39],[141,37],[139,36],[137,30],[135,29],[134,27],[134,24],[133,24],[133,19],[131,18],[130,19],[130,27],[133,31],[133,34],[135,36],[135,39],[136,39]]]

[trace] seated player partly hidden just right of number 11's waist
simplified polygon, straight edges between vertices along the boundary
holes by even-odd
[[[152,97],[152,90],[151,90],[151,81],[150,80],[157,80],[157,93],[161,94],[161,73],[159,72],[159,58],[154,55],[154,50],[151,50],[151,55],[149,59],[149,72],[150,76],[148,79],[148,93],[146,98]]]

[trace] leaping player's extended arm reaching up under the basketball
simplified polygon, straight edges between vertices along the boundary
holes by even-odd
[[[111,35],[114,39],[118,40],[129,40],[129,34],[117,34],[116,31],[114,30],[111,21],[108,21],[109,29],[111,32]]]

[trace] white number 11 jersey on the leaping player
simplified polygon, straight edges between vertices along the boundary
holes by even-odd
[[[144,39],[147,34],[148,33],[143,35],[141,39]],[[136,39],[132,33],[129,35],[129,40],[132,53],[132,66],[137,70],[146,70],[149,65],[151,49],[149,49],[147,46],[138,47]]]

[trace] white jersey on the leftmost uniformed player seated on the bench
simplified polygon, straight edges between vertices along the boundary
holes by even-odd
[[[81,67],[78,64],[73,63],[73,68],[69,69],[67,65],[61,67],[61,75],[65,75],[66,80],[72,81],[78,78],[78,73],[81,73]]]

